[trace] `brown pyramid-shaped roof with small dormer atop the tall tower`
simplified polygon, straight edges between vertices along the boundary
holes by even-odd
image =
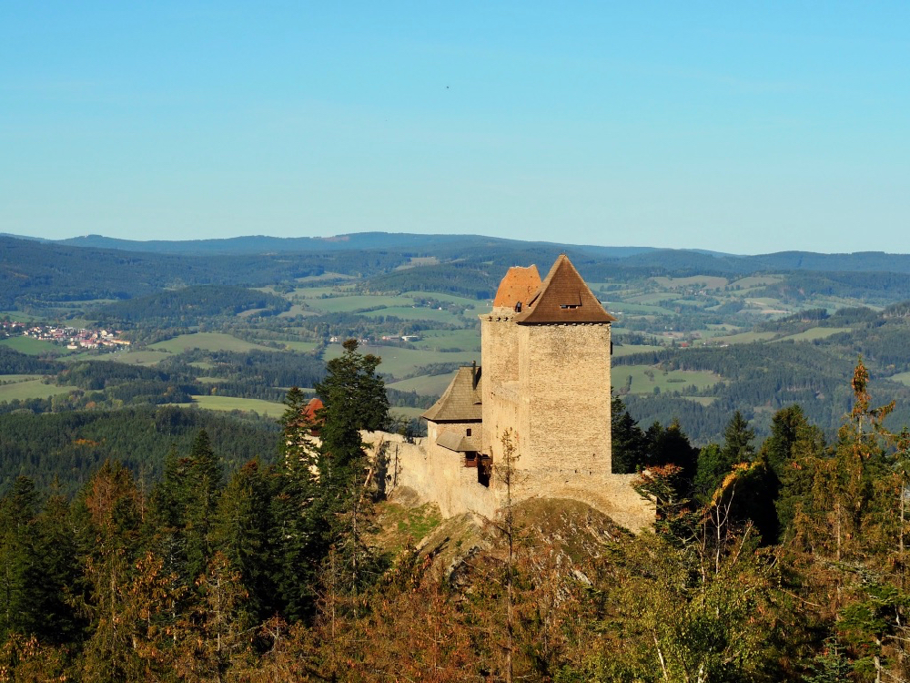
[[[571,260],[565,254],[553,264],[547,279],[514,321],[535,324],[552,322],[612,322]]]

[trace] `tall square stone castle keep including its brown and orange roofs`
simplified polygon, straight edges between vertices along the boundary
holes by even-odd
[[[482,447],[493,463],[511,429],[516,467],[536,486],[611,474],[610,323],[563,254],[546,279],[506,274],[480,316]]]

